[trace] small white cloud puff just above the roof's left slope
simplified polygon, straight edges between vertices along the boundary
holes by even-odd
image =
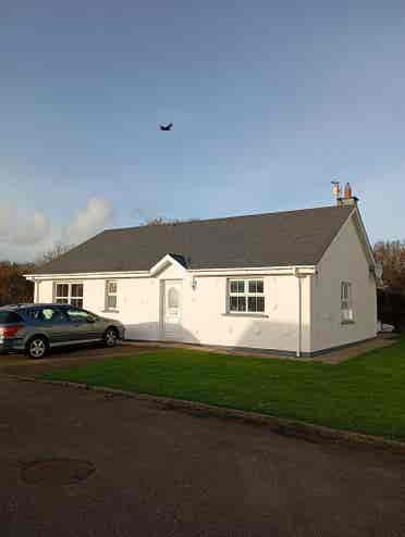
[[[113,209],[111,203],[98,197],[88,200],[87,207],[79,211],[65,230],[68,243],[78,243],[91,235],[106,228],[112,221]]]

